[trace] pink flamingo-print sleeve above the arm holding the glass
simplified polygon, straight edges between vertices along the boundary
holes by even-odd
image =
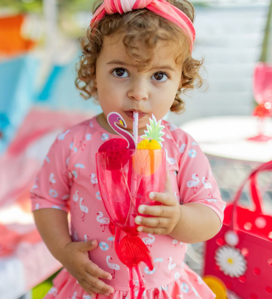
[[[218,215],[222,224],[226,203],[221,200],[210,163],[195,140],[188,134],[186,139],[186,143],[180,146],[181,158],[177,177],[181,203],[206,205]]]

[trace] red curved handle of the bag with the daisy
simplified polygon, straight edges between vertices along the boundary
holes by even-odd
[[[232,210],[232,219],[231,219],[231,225],[230,229],[233,230],[234,232],[237,232],[237,206],[240,200],[240,196],[242,193],[242,190],[246,184],[246,182],[250,181],[250,187],[251,187],[251,195],[253,202],[255,204],[255,212],[258,214],[262,213],[262,199],[261,195],[259,192],[259,189],[257,188],[257,174],[260,171],[263,170],[272,170],[272,160],[265,162],[261,164],[259,167],[257,167],[255,170],[251,172],[248,178],[244,180],[240,188],[235,194],[234,201],[233,201],[233,210]]]

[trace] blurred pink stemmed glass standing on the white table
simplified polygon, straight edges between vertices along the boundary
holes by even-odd
[[[253,111],[253,115],[260,119],[259,134],[248,140],[268,141],[272,137],[263,134],[263,122],[265,117],[272,116],[272,65],[259,62],[255,67],[254,98],[259,104]]]

